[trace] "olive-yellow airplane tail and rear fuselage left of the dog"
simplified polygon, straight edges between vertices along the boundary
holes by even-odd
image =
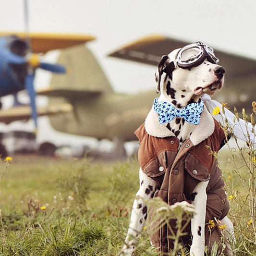
[[[37,93],[48,96],[50,103],[69,103],[73,111],[49,117],[52,127],[98,139],[134,140],[133,131],[144,122],[154,92],[115,93],[97,59],[84,45],[61,50],[58,63],[71,72],[53,74],[51,86]]]

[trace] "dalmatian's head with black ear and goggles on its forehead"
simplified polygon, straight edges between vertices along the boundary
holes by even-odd
[[[178,108],[205,93],[212,95],[224,81],[225,70],[218,61],[213,50],[201,42],[173,50],[158,63],[157,93],[161,91]]]

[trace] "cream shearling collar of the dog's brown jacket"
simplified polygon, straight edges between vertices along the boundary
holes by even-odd
[[[152,108],[145,120],[146,132],[154,137],[165,138],[175,136],[167,127],[166,124],[159,123],[158,113]],[[198,145],[200,142],[208,138],[214,132],[214,120],[211,114],[208,112],[206,106],[201,113],[200,121],[198,125],[195,125],[195,129],[190,135],[190,140],[193,145]]]

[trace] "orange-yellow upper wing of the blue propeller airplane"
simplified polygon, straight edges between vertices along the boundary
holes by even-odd
[[[0,37],[10,35],[26,38],[26,34],[22,32],[0,31]],[[29,33],[29,37],[34,53],[45,53],[49,50],[63,49],[95,40],[95,37],[84,34]]]

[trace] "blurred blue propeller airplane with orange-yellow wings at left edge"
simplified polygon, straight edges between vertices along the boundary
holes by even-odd
[[[34,119],[37,127],[37,115],[49,115],[71,111],[71,105],[36,108],[34,76],[37,68],[53,73],[66,73],[60,64],[41,61],[42,53],[53,49],[63,49],[95,39],[89,35],[44,34],[0,32],[0,97],[14,95],[14,106],[0,110],[0,122]],[[26,89],[30,98],[30,108],[19,104],[17,92]]]

